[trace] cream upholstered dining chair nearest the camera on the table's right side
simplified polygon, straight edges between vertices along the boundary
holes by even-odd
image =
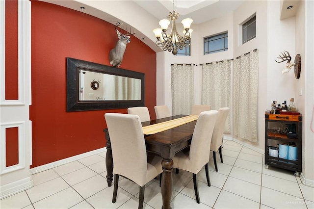
[[[193,184],[196,202],[200,203],[197,186],[197,173],[205,166],[207,184],[210,186],[208,162],[212,131],[215,126],[217,110],[203,111],[196,122],[189,150],[177,153],[173,159],[173,167],[193,173]]]

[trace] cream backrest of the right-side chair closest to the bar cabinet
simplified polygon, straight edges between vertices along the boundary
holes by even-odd
[[[212,132],[210,150],[216,152],[222,145],[224,128],[229,114],[229,107],[221,107],[218,109],[218,118],[215,124],[214,131]]]

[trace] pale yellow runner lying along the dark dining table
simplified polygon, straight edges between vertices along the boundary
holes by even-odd
[[[159,133],[161,131],[166,131],[166,130],[181,126],[183,124],[195,121],[197,120],[197,118],[198,118],[198,115],[188,115],[183,118],[177,118],[174,120],[157,123],[150,126],[145,126],[143,127],[143,133],[146,135]]]

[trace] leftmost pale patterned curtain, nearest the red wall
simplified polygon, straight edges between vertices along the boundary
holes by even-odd
[[[172,114],[191,114],[194,104],[193,64],[171,66]]]

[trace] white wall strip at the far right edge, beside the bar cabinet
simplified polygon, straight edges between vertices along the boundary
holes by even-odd
[[[303,115],[303,183],[314,186],[314,1],[300,1],[295,17],[295,52],[301,55],[301,74],[294,90],[299,112]],[[299,95],[299,89],[303,95]],[[312,130],[311,130],[312,125]]]

